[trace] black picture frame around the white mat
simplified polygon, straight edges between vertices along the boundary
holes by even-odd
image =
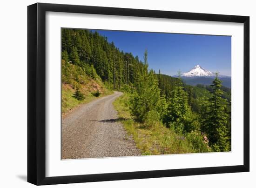
[[[243,23],[243,165],[46,177],[46,12]],[[27,7],[27,181],[35,185],[249,172],[249,16],[36,3]]]

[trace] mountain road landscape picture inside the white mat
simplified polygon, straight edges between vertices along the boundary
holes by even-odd
[[[61,160],[231,152],[231,40],[61,28]]]

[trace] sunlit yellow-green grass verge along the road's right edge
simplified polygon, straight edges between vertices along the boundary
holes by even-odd
[[[129,95],[123,94],[114,102],[124,128],[132,135],[136,147],[142,155],[185,154],[209,152],[210,148],[202,140],[200,133],[192,132],[186,136],[175,133],[161,122],[136,122],[129,112]]]

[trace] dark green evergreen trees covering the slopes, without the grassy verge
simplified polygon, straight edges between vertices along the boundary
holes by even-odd
[[[180,77],[149,70],[147,50],[141,61],[90,30],[62,28],[61,50],[62,83],[76,89],[76,95],[77,82],[83,80],[80,74],[71,79],[70,67],[128,94],[129,113],[145,128],[164,126],[175,138],[187,139],[193,152],[231,150],[231,91],[218,74],[211,85],[187,85]]]

